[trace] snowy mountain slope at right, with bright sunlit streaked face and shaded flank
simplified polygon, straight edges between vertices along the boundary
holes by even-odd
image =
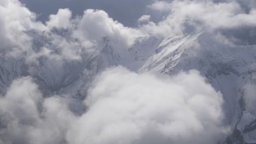
[[[246,83],[255,81],[255,53],[256,45],[224,44],[214,35],[199,32],[166,38],[139,72],[171,75],[178,71],[199,70],[223,94],[225,123],[234,130],[227,143],[255,143],[256,109],[246,109],[243,91]]]

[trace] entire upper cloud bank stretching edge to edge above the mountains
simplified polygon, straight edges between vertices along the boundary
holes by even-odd
[[[105,11],[94,9],[85,10],[82,16],[59,9],[44,24],[18,0],[5,0],[0,5],[1,51],[7,56],[25,58],[27,63],[35,63],[41,57],[81,61],[84,55],[101,51],[106,37],[115,51],[128,50],[138,37],[166,38],[201,29],[223,34],[241,44],[254,44],[256,38],[253,1],[155,1],[147,8],[153,14],[142,15],[136,27],[125,27]],[[154,14],[161,14],[161,19],[152,21]],[[38,35],[45,40],[36,39]]]

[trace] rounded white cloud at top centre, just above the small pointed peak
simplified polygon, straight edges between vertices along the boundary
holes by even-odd
[[[78,33],[96,45],[103,37],[107,37],[116,50],[131,46],[136,37],[143,36],[137,29],[125,27],[114,21],[105,11],[93,9],[84,11]]]

